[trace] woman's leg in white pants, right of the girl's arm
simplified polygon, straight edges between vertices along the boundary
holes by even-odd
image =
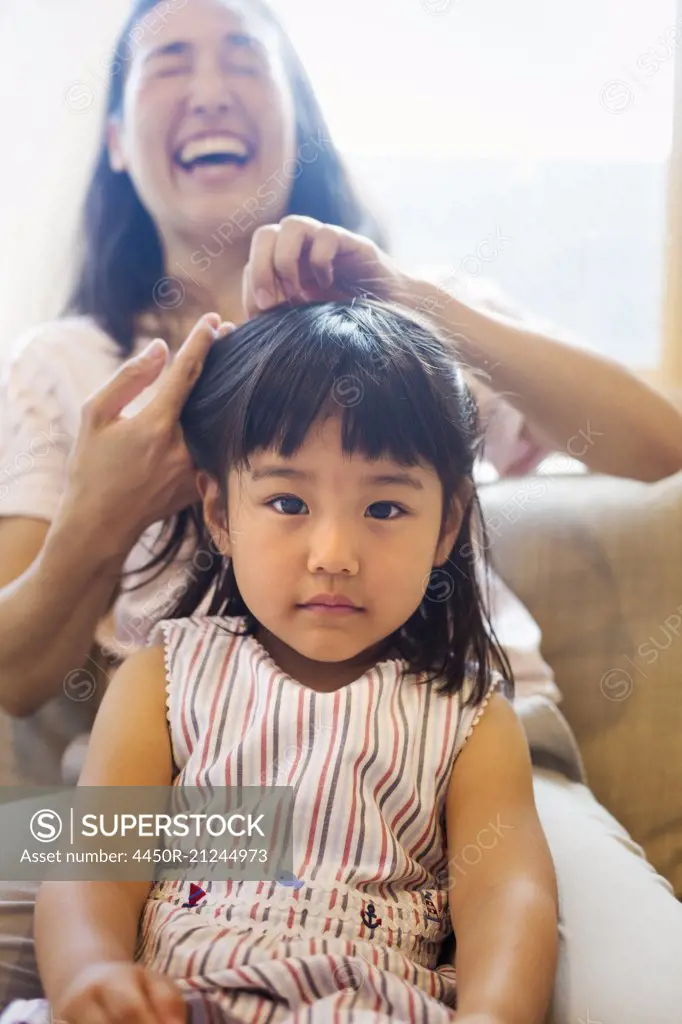
[[[559,885],[551,1024],[680,1024],[682,903],[587,786],[534,770]]]

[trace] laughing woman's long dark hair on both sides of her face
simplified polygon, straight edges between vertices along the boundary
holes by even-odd
[[[110,167],[105,124],[122,112],[134,29],[158,3],[136,0],[116,44],[104,129],[82,215],[80,266],[65,309],[66,313],[92,316],[118,343],[122,356],[132,352],[135,318],[153,308],[155,286],[164,280],[166,270],[154,220],[128,174]],[[310,142],[317,152],[314,160],[298,162],[300,173],[294,180],[287,212],[345,227],[386,248],[382,229],[360,201],[332,142],[312,85],[287,33],[262,0],[251,0],[251,6],[280,38],[294,97],[297,152]]]

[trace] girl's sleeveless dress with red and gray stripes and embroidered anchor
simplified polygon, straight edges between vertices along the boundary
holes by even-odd
[[[397,657],[319,693],[225,626],[244,620],[157,627],[173,784],[293,786],[296,888],[198,878],[206,898],[183,906],[189,881],[155,882],[136,961],[174,979],[193,1024],[454,1021],[444,802],[487,700],[465,708]]]

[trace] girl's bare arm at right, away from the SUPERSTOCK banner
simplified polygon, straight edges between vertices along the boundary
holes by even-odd
[[[543,1024],[557,959],[556,878],[525,735],[500,694],[455,762],[445,816],[458,1015]]]

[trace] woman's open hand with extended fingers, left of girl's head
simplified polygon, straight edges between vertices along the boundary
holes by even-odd
[[[102,548],[112,556],[127,554],[148,525],[199,500],[179,417],[211,345],[232,329],[217,313],[203,316],[155,396],[134,416],[122,412],[166,367],[168,348],[161,339],[85,402],[63,500],[75,515],[98,523]]]

